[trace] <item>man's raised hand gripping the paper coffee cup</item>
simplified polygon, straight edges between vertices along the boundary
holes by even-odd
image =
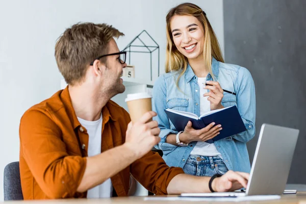
[[[149,111],[134,124],[130,122],[127,125],[124,145],[135,152],[137,159],[147,154],[154,145],[160,142],[158,122],[150,121],[156,115],[155,112]]]

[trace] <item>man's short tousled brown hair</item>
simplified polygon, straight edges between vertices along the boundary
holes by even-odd
[[[113,38],[124,34],[106,23],[77,23],[58,38],[55,58],[67,84],[74,85],[85,77],[90,63],[108,52],[107,44]],[[101,62],[105,62],[101,58]]]

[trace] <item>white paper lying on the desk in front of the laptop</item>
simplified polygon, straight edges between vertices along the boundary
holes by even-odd
[[[241,197],[162,197],[162,196],[148,196],[144,200],[188,200],[188,201],[247,201],[247,200],[274,200],[280,199],[280,195],[248,195]]]

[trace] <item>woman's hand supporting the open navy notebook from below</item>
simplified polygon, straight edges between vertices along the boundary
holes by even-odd
[[[210,123],[206,127],[195,130],[192,128],[191,121],[188,121],[185,130],[180,134],[180,141],[185,143],[190,143],[193,141],[202,141],[205,142],[209,139],[212,139],[220,134],[219,131],[222,130],[221,124],[215,125],[215,122]]]

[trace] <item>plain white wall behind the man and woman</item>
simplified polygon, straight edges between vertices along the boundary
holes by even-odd
[[[223,50],[222,0],[189,1],[207,13]],[[63,31],[77,22],[106,22],[125,37],[119,49],[142,30],[160,45],[160,70],[165,62],[165,16],[182,1],[23,1],[0,0],[0,186],[6,164],[19,160],[20,117],[34,104],[60,89],[54,46]],[[141,76],[140,76],[141,77]],[[0,200],[3,188],[0,187]]]

